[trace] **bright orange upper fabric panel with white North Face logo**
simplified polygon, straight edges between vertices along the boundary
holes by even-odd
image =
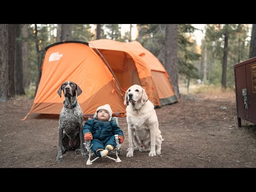
[[[79,100],[83,102],[110,82],[112,77],[105,63],[90,47],[77,43],[56,45],[46,51],[38,86],[40,94],[36,95],[35,102],[62,102],[57,90],[65,81],[73,81],[82,90],[87,90],[87,94],[79,96]],[[91,86],[92,81],[94,86]]]

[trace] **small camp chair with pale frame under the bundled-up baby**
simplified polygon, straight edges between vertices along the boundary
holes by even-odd
[[[88,118],[88,120],[90,120],[90,119],[91,118]],[[118,118],[117,117],[112,117],[111,121],[114,121],[118,125]],[[113,157],[109,157],[108,155],[106,157],[112,159],[115,162],[121,162],[121,159],[118,157],[118,155],[120,154],[120,147],[121,147],[121,144],[119,143],[119,140],[118,140],[118,134],[115,135],[115,139],[116,139],[116,148],[111,150],[110,153],[116,154],[116,159],[113,158]],[[84,145],[85,145],[85,148],[87,149],[87,152],[89,153],[88,154],[89,158],[88,158],[88,160],[86,162],[86,165],[91,165],[95,160],[97,160],[100,157],[95,157],[94,159],[91,160],[91,157],[93,155],[95,155],[93,153],[93,151],[91,150],[91,140],[90,141],[85,141]]]

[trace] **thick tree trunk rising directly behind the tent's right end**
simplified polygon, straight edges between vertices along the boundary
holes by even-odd
[[[164,51],[164,66],[167,74],[171,79],[171,84],[174,86],[174,90],[177,97],[179,94],[178,84],[178,59],[177,59],[177,24],[165,25],[165,51]]]

